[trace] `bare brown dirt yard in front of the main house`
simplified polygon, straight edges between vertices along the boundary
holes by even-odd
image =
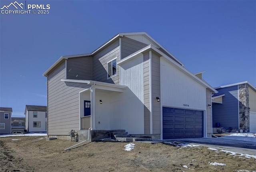
[[[0,138],[1,172],[237,172],[256,171],[254,158],[232,156],[206,147],[178,148],[162,143],[91,142],[64,151],[77,142],[32,136]],[[20,140],[12,140],[20,139]],[[213,166],[219,162],[226,166]],[[187,166],[183,167],[183,166]],[[246,171],[244,171],[246,172]]]

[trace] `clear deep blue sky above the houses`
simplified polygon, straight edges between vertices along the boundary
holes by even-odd
[[[24,117],[25,105],[46,105],[42,74],[60,56],[90,53],[119,32],[147,32],[192,73],[205,70],[212,87],[256,86],[256,1],[26,4],[50,4],[49,14],[0,14],[0,107],[12,107],[13,117]]]

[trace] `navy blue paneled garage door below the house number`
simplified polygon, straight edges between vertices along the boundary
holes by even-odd
[[[163,107],[163,139],[203,137],[203,111]]]

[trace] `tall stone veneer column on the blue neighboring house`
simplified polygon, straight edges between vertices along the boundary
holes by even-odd
[[[247,84],[238,85],[239,92],[239,122],[243,132],[250,132],[249,113],[249,86]]]

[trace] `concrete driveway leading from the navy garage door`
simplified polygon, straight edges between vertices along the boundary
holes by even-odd
[[[210,148],[216,148],[218,150],[228,150],[233,152],[239,152],[243,154],[256,155],[256,142],[235,140],[228,138],[180,138],[170,139],[163,141],[179,141],[191,144],[197,144],[200,146],[206,146]],[[255,138],[256,140],[256,138]]]

